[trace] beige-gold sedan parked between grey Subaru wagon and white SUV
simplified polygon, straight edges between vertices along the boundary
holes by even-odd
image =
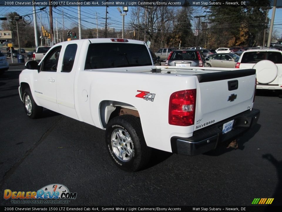
[[[207,57],[207,67],[234,68],[239,61],[239,56],[232,53],[212,54]]]

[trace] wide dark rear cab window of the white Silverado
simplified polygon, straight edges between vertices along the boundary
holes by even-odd
[[[84,69],[150,66],[148,49],[141,44],[93,43],[89,44]]]

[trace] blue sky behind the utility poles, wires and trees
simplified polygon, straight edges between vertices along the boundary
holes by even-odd
[[[42,7],[42,6],[41,6]],[[48,8],[44,11],[40,11],[41,7],[36,6],[36,20],[38,26],[40,26],[40,20],[42,20],[42,24],[45,28],[49,28],[49,10]],[[85,29],[93,29],[96,28],[97,19],[98,19],[98,29],[105,28],[105,13],[106,7],[104,6],[82,6],[80,7],[81,10],[81,25]],[[120,7],[122,9],[122,7]],[[195,15],[201,14],[204,9],[201,7],[196,7]],[[0,17],[5,17],[5,15],[9,12],[17,12],[19,15],[26,16],[26,19],[30,18],[31,24],[33,24],[33,8],[31,6],[23,6],[23,7],[7,7],[7,6],[0,6]],[[124,12],[123,12],[124,13]],[[63,16],[64,14],[64,26],[65,30],[71,29],[75,26],[78,26],[78,15],[77,15],[77,6],[63,6],[63,7],[56,7],[53,8],[53,26],[56,30],[56,23],[58,28],[63,28]],[[97,14],[97,19],[96,19]],[[272,9],[269,11],[269,18],[271,18]],[[57,22],[56,22],[57,18]],[[127,26],[130,21],[130,7],[129,11],[127,12],[127,16],[125,16],[125,33],[127,31]],[[109,28],[114,28],[115,30],[122,30],[122,16],[120,12],[117,10],[115,6],[108,7],[108,21],[107,21]],[[275,19],[273,25],[273,31],[276,32],[277,39],[282,38],[282,8],[276,8],[275,12]]]

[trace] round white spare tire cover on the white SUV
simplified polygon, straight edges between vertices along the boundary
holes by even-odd
[[[257,62],[253,69],[256,69],[256,79],[258,83],[268,84],[273,82],[278,75],[278,68],[270,60],[261,60]]]

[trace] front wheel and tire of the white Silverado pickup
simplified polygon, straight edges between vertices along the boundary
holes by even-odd
[[[24,90],[23,100],[24,100],[24,110],[26,111],[26,115],[28,115],[28,117],[30,117],[31,119],[40,117],[43,107],[38,106],[34,102],[30,89]]]

